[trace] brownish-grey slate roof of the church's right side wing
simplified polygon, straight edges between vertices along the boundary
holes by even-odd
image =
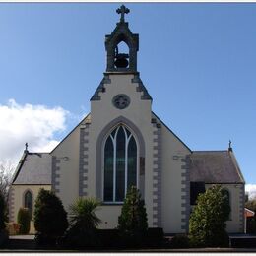
[[[245,183],[232,151],[195,151],[190,155],[190,181]]]

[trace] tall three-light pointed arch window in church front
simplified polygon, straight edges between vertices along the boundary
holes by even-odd
[[[123,202],[127,189],[138,183],[138,147],[135,137],[127,127],[119,125],[106,138],[103,151],[103,200]]]

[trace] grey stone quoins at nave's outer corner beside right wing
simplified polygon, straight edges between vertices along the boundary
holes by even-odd
[[[181,165],[181,184],[185,185],[181,188],[181,229],[188,232],[190,216],[189,156],[187,155],[184,159],[181,159],[181,162],[183,163]]]

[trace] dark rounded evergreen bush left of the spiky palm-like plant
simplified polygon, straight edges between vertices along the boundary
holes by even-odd
[[[67,229],[67,213],[52,191],[39,191],[34,206],[34,227],[37,232],[36,241],[40,244],[56,244]]]

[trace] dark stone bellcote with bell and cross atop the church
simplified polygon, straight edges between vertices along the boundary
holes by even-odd
[[[124,16],[130,12],[128,8],[122,5],[116,12],[121,15],[120,21],[111,34],[105,35],[106,73],[136,73],[139,34],[132,33],[125,22]],[[119,52],[121,42],[127,45],[128,53]]]

